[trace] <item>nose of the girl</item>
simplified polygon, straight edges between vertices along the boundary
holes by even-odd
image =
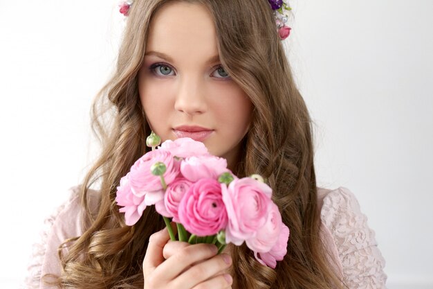
[[[174,109],[185,114],[202,114],[208,107],[205,100],[203,83],[197,78],[183,78],[181,80]]]

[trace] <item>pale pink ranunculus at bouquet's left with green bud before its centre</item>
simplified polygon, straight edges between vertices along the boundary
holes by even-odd
[[[164,173],[165,184],[170,184],[179,174],[180,163],[167,150],[153,150],[140,157],[129,172],[131,190],[137,197],[146,196],[147,205],[155,204],[164,198],[163,185],[159,176],[152,175],[150,168],[156,162],[163,162],[167,167]]]

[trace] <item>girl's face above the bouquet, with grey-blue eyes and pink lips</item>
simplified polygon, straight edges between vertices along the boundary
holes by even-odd
[[[169,3],[149,26],[138,74],[142,107],[163,141],[191,137],[232,168],[252,103],[219,62],[216,32],[200,4]]]

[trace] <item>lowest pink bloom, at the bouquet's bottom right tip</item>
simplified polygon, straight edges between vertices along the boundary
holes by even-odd
[[[254,252],[254,256],[262,265],[275,269],[277,261],[282,261],[287,254],[287,241],[290,230],[283,224],[277,243],[266,253]]]

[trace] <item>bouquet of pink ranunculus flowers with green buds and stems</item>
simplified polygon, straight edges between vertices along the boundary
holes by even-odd
[[[134,225],[146,207],[154,205],[172,240],[176,236],[170,219],[176,222],[177,240],[213,243],[219,253],[228,243],[246,242],[262,265],[275,268],[282,261],[289,229],[263,177],[238,178],[225,159],[187,137],[160,145],[152,132],[146,143],[152,150],[131,166],[117,187],[116,202],[127,225]]]

